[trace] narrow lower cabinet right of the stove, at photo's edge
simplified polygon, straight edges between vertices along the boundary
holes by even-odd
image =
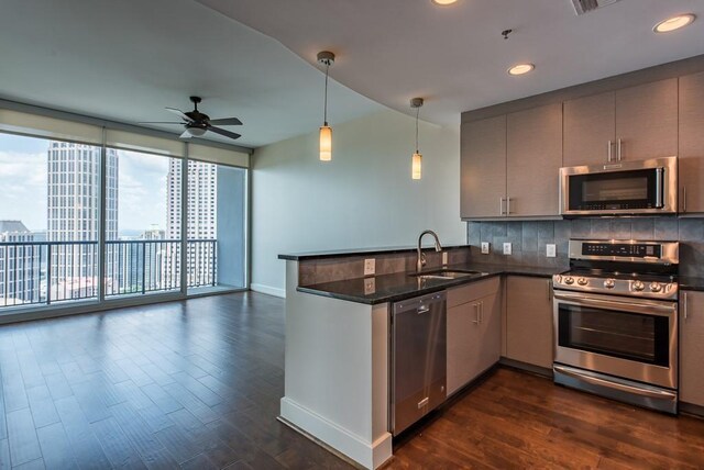
[[[704,406],[704,292],[680,298],[680,401]]]

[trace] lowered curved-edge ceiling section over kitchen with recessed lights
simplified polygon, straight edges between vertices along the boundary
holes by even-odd
[[[315,63],[338,55],[332,75],[411,114],[458,123],[462,111],[704,54],[704,1],[622,0],[578,16],[571,0],[198,0]],[[668,35],[652,26],[675,13],[698,20]],[[513,29],[507,41],[503,30]],[[506,74],[530,61],[524,77]]]

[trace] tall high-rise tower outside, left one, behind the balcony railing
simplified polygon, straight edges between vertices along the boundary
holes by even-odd
[[[92,145],[51,142],[47,153],[52,300],[92,296],[98,286],[100,154]],[[118,236],[118,153],[106,153],[106,239]],[[106,253],[106,273],[112,271]]]

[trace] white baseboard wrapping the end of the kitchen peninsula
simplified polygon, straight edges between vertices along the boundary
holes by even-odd
[[[282,399],[280,412],[284,419],[351,458],[364,468],[376,469],[392,457],[391,433],[385,433],[375,441],[367,443],[360,436],[300,406],[286,396]]]

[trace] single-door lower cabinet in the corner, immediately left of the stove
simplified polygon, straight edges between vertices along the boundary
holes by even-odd
[[[506,278],[506,357],[552,368],[552,281]]]

